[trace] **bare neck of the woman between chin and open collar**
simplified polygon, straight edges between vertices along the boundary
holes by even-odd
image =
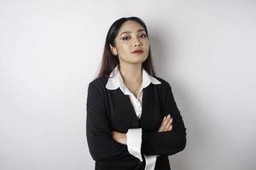
[[[125,64],[119,65],[119,71],[123,80],[128,83],[142,82],[143,70],[142,64]]]

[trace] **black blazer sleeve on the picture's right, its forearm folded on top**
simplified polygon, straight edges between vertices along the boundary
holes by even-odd
[[[164,83],[160,94],[164,115],[172,116],[172,131],[154,133],[143,130],[141,151],[146,156],[171,156],[183,150],[186,145],[186,128],[168,82]]]

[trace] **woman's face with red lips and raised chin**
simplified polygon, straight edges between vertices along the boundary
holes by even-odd
[[[118,54],[119,61],[139,64],[148,57],[149,39],[143,26],[136,21],[125,21],[115,37],[115,42],[116,47],[109,45],[112,54]],[[135,50],[143,50],[143,53],[133,53]]]

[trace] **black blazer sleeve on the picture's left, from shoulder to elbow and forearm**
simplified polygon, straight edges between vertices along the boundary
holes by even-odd
[[[112,138],[104,100],[103,90],[90,82],[86,103],[86,136],[90,155],[95,161],[130,159],[127,146]]]

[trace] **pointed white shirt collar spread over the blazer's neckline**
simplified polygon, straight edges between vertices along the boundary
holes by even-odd
[[[147,71],[143,69],[143,84],[142,88],[146,88],[150,82],[153,84],[160,84],[156,78],[150,76]],[[125,87],[123,78],[119,71],[119,65],[116,65],[113,71],[110,73],[106,88],[109,90],[120,88],[124,94],[131,94],[131,92]]]

